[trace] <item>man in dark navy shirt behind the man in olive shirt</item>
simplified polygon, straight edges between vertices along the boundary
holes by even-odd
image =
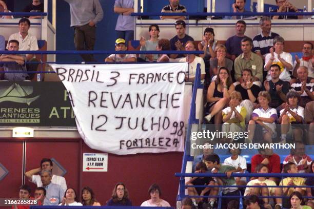
[[[227,48],[227,58],[234,61],[235,58],[237,58],[240,54],[242,54],[241,50],[241,40],[244,37],[247,37],[244,35],[246,30],[246,23],[243,20],[238,20],[238,22],[235,24],[235,35],[231,36],[226,41],[226,48]]]

